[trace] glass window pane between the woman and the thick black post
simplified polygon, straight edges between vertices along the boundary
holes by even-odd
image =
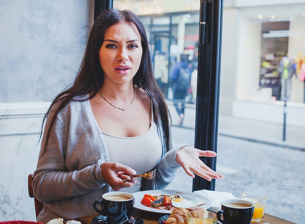
[[[113,8],[134,11],[145,25],[154,76],[172,116],[173,147],[194,146],[199,7],[197,0],[113,1]],[[167,189],[192,192],[192,177],[180,168]]]

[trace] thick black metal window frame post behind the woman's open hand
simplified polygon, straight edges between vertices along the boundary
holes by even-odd
[[[202,0],[199,24],[195,147],[217,152],[217,127],[221,62],[222,0]],[[204,11],[203,11],[204,10]],[[216,157],[200,158],[216,170]],[[193,179],[193,191],[215,190],[215,179]]]

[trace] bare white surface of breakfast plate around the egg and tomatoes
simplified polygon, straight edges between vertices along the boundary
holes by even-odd
[[[165,195],[177,194],[177,195],[181,195],[181,197],[185,198],[186,200],[190,200],[193,198],[202,198],[203,200],[206,201],[206,204],[199,205],[197,207],[202,207],[202,208],[208,209],[212,205],[212,202],[210,199],[208,199],[207,197],[201,196],[199,194],[183,192],[183,191],[174,191],[174,190],[152,190],[152,191],[139,191],[139,192],[133,193],[133,195],[135,196],[135,208],[138,208],[143,211],[151,211],[151,212],[155,212],[155,213],[164,213],[164,214],[170,214],[172,212],[171,210],[160,210],[160,209],[150,208],[150,207],[146,207],[145,205],[142,205],[141,201],[145,194],[149,194],[152,196],[161,195],[161,194],[165,194]]]

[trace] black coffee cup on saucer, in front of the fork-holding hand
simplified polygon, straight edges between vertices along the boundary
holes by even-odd
[[[135,198],[127,192],[108,192],[102,201],[95,201],[93,208],[106,217],[107,223],[127,224],[134,208]],[[101,209],[99,209],[100,207]]]

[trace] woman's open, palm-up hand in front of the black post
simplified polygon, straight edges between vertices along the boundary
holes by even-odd
[[[189,176],[194,178],[194,174],[196,174],[208,181],[211,181],[212,178],[220,179],[224,178],[224,176],[206,166],[199,157],[215,157],[216,155],[216,152],[213,151],[203,151],[190,146],[184,146],[177,151],[176,162],[182,166],[185,173]]]

